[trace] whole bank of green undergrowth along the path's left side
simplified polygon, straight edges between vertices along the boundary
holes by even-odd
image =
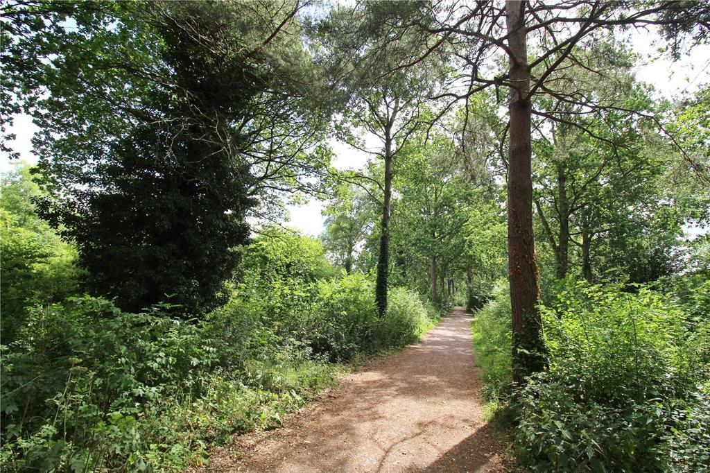
[[[371,279],[322,258],[310,239],[262,237],[229,303],[200,320],[89,296],[29,303],[0,345],[2,471],[207,464],[231,435],[278,427],[340,371],[438,319],[403,288],[380,317]]]

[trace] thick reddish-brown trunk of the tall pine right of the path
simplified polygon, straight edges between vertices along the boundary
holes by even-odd
[[[508,154],[508,279],[513,312],[513,381],[545,368],[545,342],[537,311],[535,239],[532,235],[530,160],[530,67],[525,29],[526,1],[506,1],[510,49],[510,146]]]

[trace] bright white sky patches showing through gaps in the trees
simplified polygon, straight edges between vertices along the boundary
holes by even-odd
[[[636,67],[638,80],[647,82],[655,87],[662,97],[677,98],[687,92],[693,92],[698,85],[710,80],[710,45],[700,45],[692,50],[689,55],[684,55],[677,62],[665,58],[657,52],[654,44],[658,38],[652,32],[643,30],[635,31],[631,35],[633,49],[642,55],[643,64]],[[20,153],[21,159],[34,164],[37,158],[33,155],[31,138],[37,126],[32,123],[29,116],[18,115],[14,117],[14,124],[10,129],[16,134],[16,140],[11,143],[11,148]],[[366,145],[369,148],[377,146],[376,138],[368,136]],[[356,150],[346,143],[329,139],[329,145],[334,152],[332,164],[339,170],[362,168],[370,156]],[[0,171],[6,172],[12,165],[6,153],[0,153]],[[311,199],[305,205],[290,205],[288,227],[300,230],[303,234],[316,237],[323,230],[324,217],[321,210],[324,202]]]

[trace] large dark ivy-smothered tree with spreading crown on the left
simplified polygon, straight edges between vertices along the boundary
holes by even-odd
[[[246,215],[327,165],[300,4],[55,7],[4,11],[18,93],[48,92],[20,97],[43,130],[40,213],[122,308],[175,295],[184,312],[209,310],[249,237]],[[55,57],[33,62],[31,45]]]

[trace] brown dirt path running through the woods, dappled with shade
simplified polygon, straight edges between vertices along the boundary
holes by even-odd
[[[369,364],[268,433],[214,452],[213,472],[503,472],[482,420],[471,316]]]

